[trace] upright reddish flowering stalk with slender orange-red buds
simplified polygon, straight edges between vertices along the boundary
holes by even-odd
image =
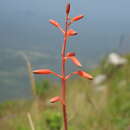
[[[79,15],[76,16],[74,18],[70,18],[69,16],[70,14],[70,3],[66,4],[66,17],[65,17],[65,28],[62,29],[61,25],[53,20],[50,19],[49,22],[56,28],[58,28],[62,34],[64,35],[64,42],[63,42],[63,46],[62,46],[62,50],[61,50],[61,75],[55,73],[54,71],[50,70],[50,69],[39,69],[39,70],[34,70],[33,73],[34,74],[53,74],[55,76],[57,76],[58,78],[61,79],[61,94],[60,96],[56,96],[53,97],[50,102],[51,103],[55,103],[55,102],[60,102],[62,105],[62,110],[63,110],[63,118],[64,118],[64,130],[68,130],[68,124],[67,124],[67,104],[66,104],[66,80],[69,79],[71,76],[73,76],[74,74],[79,75],[80,77],[83,78],[87,78],[89,80],[92,80],[93,77],[82,71],[82,70],[78,70],[75,72],[72,72],[68,75],[66,75],[66,69],[65,69],[65,63],[67,62],[68,59],[72,60],[72,62],[77,65],[77,66],[82,66],[81,63],[79,62],[79,60],[76,58],[76,54],[74,52],[68,52],[66,53],[66,45],[67,45],[67,40],[69,37],[71,36],[75,36],[78,33],[76,31],[74,31],[73,29],[69,29],[70,25],[80,19],[82,19],[84,16],[83,15]]]

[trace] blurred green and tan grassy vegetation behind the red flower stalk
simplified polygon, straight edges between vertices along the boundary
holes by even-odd
[[[130,126],[130,55],[127,64],[114,67],[106,61],[93,75],[108,78],[98,86],[84,79],[68,81],[69,130],[127,130]],[[50,81],[51,82],[51,81]],[[27,112],[36,130],[62,130],[60,103],[48,101],[59,93],[59,84],[48,80],[37,83],[37,97],[31,101],[14,101],[0,105],[2,130],[31,130]],[[40,84],[41,83],[41,84]],[[43,92],[42,92],[43,91]],[[42,95],[42,96],[41,96]],[[57,106],[58,104],[58,106]],[[59,112],[60,111],[60,112]]]

